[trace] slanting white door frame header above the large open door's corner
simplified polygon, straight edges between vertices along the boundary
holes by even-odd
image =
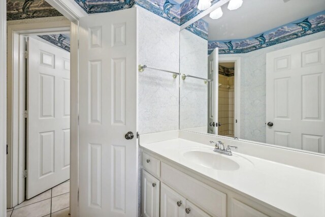
[[[88,16],[74,0],[46,0],[46,2],[72,22]]]

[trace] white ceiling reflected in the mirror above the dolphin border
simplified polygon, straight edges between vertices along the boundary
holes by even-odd
[[[325,10],[324,0],[243,0],[235,11],[221,7],[223,16],[209,23],[209,41],[245,39],[267,30]]]

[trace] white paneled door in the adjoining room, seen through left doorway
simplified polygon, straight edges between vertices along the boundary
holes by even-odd
[[[70,53],[28,38],[27,199],[70,174]]]

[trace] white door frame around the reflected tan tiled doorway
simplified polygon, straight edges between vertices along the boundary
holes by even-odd
[[[240,138],[240,69],[241,57],[223,57],[219,56],[219,63],[234,62],[235,63],[235,137]],[[237,120],[237,123],[236,123]]]

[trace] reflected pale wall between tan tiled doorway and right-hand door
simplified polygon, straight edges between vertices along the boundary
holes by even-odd
[[[287,41],[244,54],[221,54],[241,57],[241,139],[266,142],[266,54],[275,50],[314,41],[325,32]]]

